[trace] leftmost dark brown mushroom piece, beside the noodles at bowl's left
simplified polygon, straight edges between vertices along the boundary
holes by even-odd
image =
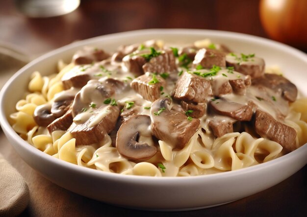
[[[39,126],[47,127],[55,120],[55,116],[51,113],[51,104],[37,106],[34,110],[33,118]]]

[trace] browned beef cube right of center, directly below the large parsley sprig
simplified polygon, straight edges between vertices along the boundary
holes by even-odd
[[[176,83],[173,97],[178,100],[202,103],[212,96],[210,81],[196,74],[184,72]]]

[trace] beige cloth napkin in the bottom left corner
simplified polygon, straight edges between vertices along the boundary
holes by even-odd
[[[24,178],[0,155],[0,216],[18,216],[29,202]]]

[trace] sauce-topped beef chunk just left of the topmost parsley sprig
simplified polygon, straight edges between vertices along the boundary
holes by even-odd
[[[146,59],[139,55],[127,55],[123,58],[123,63],[127,67],[128,72],[134,73],[137,76],[144,73],[142,67],[146,62]]]

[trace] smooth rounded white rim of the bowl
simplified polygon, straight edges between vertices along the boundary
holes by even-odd
[[[109,38],[122,38],[124,35],[126,37],[134,36],[134,35],[149,35],[149,34],[163,34],[163,35],[184,35],[184,34],[192,34],[195,36],[203,36],[203,37],[214,37],[214,36],[222,36],[232,39],[238,39],[244,40],[244,41],[255,41],[256,43],[261,43],[268,46],[273,46],[282,50],[286,50],[295,57],[301,59],[307,64],[307,55],[296,49],[292,48],[288,45],[284,45],[280,42],[276,42],[270,39],[261,38],[258,36],[252,36],[248,34],[243,33],[236,33],[236,32],[228,32],[228,31],[219,31],[219,30],[203,30],[203,29],[142,29],[142,30],[134,30],[134,31],[127,31],[127,32],[120,32],[120,33],[114,33],[114,34],[107,34],[102,36],[97,36],[90,39],[85,39],[82,41],[74,42],[72,44],[63,46],[61,48],[54,49],[46,54],[43,54],[42,56],[32,60],[30,63],[28,63],[26,66],[24,66],[22,69],[20,69],[18,72],[16,72],[3,86],[3,88],[0,91],[0,124],[2,126],[3,132],[6,134],[6,137],[10,137],[12,140],[15,140],[16,143],[19,145],[23,145],[24,148],[30,152],[31,155],[36,155],[37,157],[44,158],[44,160],[48,161],[51,164],[54,164],[59,167],[63,167],[65,169],[70,169],[74,172],[81,172],[85,175],[95,176],[96,178],[108,178],[108,179],[117,179],[121,178],[122,181],[129,181],[129,182],[143,182],[143,181],[157,181],[158,183],[164,182],[169,184],[176,184],[181,182],[191,183],[191,181],[198,182],[198,181],[204,181],[205,180],[214,180],[217,178],[226,178],[226,177],[233,177],[237,175],[246,175],[248,173],[254,173],[257,170],[261,170],[264,168],[271,168],[274,167],[277,164],[281,164],[282,162],[290,161],[292,159],[292,156],[295,155],[302,155],[305,152],[307,153],[307,145],[303,145],[300,148],[283,155],[279,158],[276,158],[272,161],[261,163],[258,165],[254,165],[248,168],[238,169],[238,170],[230,170],[225,172],[219,172],[219,173],[213,173],[213,174],[205,174],[205,175],[198,175],[198,176],[181,176],[181,177],[152,177],[152,176],[137,176],[137,175],[127,175],[127,174],[119,174],[119,173],[112,173],[112,172],[105,172],[98,169],[90,169],[81,167],[60,159],[57,159],[55,157],[52,157],[51,155],[48,155],[39,149],[35,148],[34,146],[28,144],[25,140],[23,140],[11,127],[11,125],[8,122],[8,119],[6,118],[4,114],[5,110],[5,103],[4,98],[6,93],[8,92],[8,88],[14,83],[16,78],[26,72],[30,67],[35,66],[41,61],[44,61],[45,59],[55,56],[65,50],[77,48],[86,46],[87,44],[95,43],[95,42],[102,42],[104,40],[108,40]],[[205,36],[210,35],[210,36]],[[306,163],[305,163],[306,164]]]

